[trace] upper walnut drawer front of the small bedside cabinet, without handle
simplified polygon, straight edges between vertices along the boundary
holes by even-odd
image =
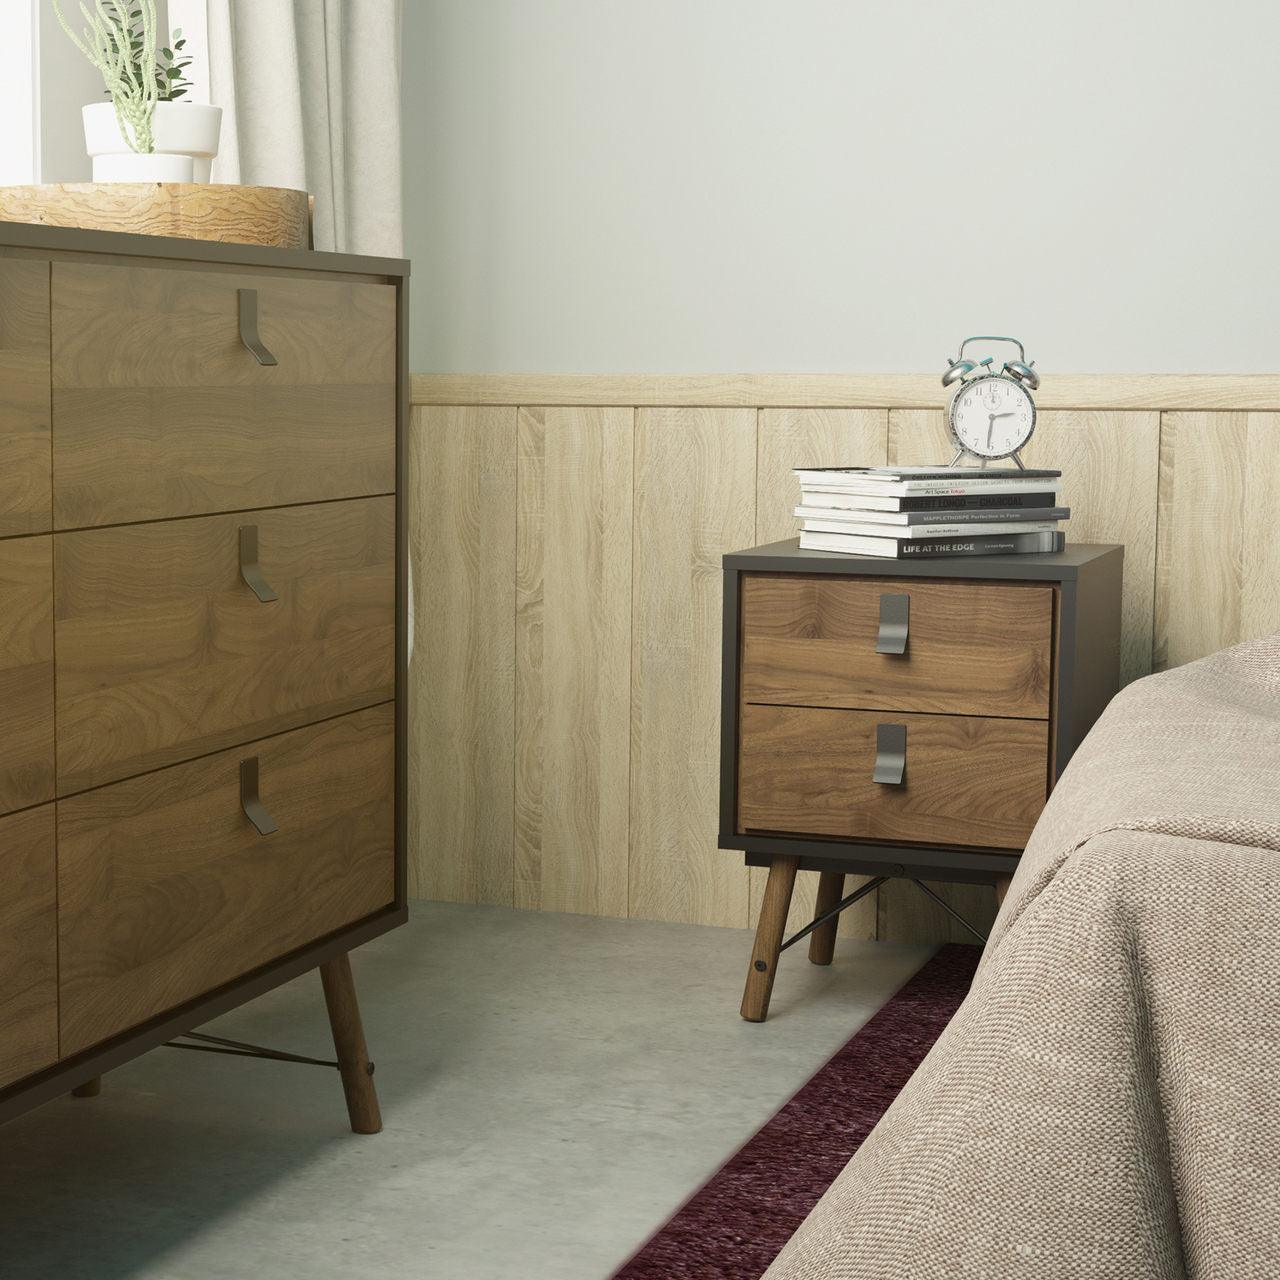
[[[906,595],[906,653],[876,652],[881,598]],[[753,573],[742,579],[742,699],[1047,718],[1053,590]]]

